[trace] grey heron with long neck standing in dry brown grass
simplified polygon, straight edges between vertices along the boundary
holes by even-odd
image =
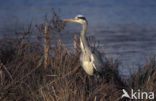
[[[92,49],[86,39],[86,30],[88,22],[83,15],[77,15],[74,18],[63,19],[63,21],[77,22],[82,25],[80,33],[80,62],[81,66],[88,75],[101,74],[103,68],[103,61],[100,53],[96,49]]]

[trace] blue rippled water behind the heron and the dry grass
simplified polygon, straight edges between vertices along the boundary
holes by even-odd
[[[21,26],[41,23],[50,8],[58,9],[61,18],[77,14],[86,16],[87,35],[94,35],[108,57],[121,61],[120,70],[136,69],[145,58],[156,54],[156,1],[155,0],[5,0],[0,2],[0,35],[17,31]],[[7,30],[7,32],[6,32]],[[67,24],[66,31],[79,32],[79,24]],[[62,36],[72,46],[73,34]]]

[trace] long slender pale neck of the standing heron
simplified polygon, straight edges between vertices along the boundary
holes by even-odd
[[[87,24],[84,23],[82,24],[82,31],[80,35],[80,46],[81,46],[82,51],[89,49],[89,46],[86,40],[86,30],[87,30]]]

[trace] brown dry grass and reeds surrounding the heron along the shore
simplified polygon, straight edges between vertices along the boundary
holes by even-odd
[[[0,100],[1,101],[119,101],[122,88],[126,88],[118,73],[118,62],[105,56],[104,67],[108,70],[99,83],[89,77],[80,67],[79,39],[74,37],[73,50],[69,51],[63,42],[55,37],[64,28],[64,23],[52,12],[46,17],[49,37],[48,58],[44,68],[44,26],[30,25],[16,37],[0,40]],[[36,40],[35,42],[31,41]],[[89,38],[88,41],[94,40]],[[94,42],[95,43],[95,42]],[[92,43],[94,47],[97,47]],[[52,47],[53,46],[53,47]],[[46,54],[47,54],[46,53]],[[129,87],[140,86],[145,90],[156,90],[155,59],[144,66],[141,74],[133,76]],[[136,81],[137,80],[137,81]],[[127,87],[128,88],[128,87]]]

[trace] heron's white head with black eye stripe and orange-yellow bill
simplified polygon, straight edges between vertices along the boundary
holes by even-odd
[[[71,22],[77,22],[80,24],[87,24],[87,20],[83,15],[77,15],[74,18],[69,18],[69,19],[63,19],[63,21],[71,21]]]

